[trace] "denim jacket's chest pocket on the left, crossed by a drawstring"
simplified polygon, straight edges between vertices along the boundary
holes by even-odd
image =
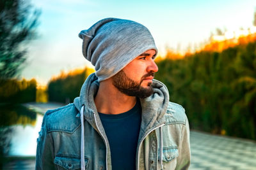
[[[88,158],[84,158],[84,166],[88,167]],[[70,155],[56,155],[54,164],[62,167],[63,169],[80,169],[81,159],[80,157]]]

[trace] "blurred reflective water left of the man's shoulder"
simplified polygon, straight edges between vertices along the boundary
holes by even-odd
[[[0,147],[7,156],[35,157],[43,113],[61,104],[0,104]]]

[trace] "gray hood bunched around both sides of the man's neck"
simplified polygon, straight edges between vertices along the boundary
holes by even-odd
[[[169,92],[167,87],[158,80],[153,80],[152,87],[154,93],[145,99],[140,99],[142,108],[141,127],[144,131],[152,128],[154,125],[163,123],[163,115],[167,110],[169,102]],[[74,99],[77,110],[81,110],[84,105],[84,118],[92,123],[93,111],[97,113],[94,103],[94,97],[99,89],[99,81],[95,73],[90,74],[84,81],[80,96]],[[79,117],[80,115],[77,115]],[[93,125],[93,124],[92,124]],[[94,127],[94,125],[93,125]],[[146,128],[147,127],[147,128]]]

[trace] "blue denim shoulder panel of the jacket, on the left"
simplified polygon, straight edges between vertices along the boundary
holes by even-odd
[[[46,111],[44,120],[47,132],[74,132],[81,124],[80,118],[76,117],[78,112],[73,103]]]

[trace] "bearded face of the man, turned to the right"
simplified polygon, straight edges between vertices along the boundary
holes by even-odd
[[[154,62],[155,57],[155,50],[147,50],[136,57],[113,76],[113,85],[127,96],[140,98],[150,96],[153,93],[152,79],[154,73],[158,71]]]

